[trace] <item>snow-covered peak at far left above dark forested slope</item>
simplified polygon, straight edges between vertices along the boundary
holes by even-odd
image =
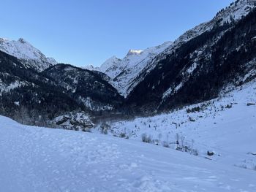
[[[0,38],[0,50],[18,58],[27,68],[42,72],[57,64],[54,58],[46,58],[37,48],[20,38],[18,41]]]

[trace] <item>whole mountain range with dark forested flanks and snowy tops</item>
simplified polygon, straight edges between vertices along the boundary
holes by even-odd
[[[24,39],[0,39],[0,113],[50,125],[68,112],[135,117],[214,99],[256,77],[255,6],[237,0],[174,42],[99,67],[58,64]]]

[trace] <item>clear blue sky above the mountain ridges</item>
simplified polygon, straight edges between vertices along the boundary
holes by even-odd
[[[59,62],[98,66],[175,40],[232,1],[1,0],[0,37],[23,37]]]

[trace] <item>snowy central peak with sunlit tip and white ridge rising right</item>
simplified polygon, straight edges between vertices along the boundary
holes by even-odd
[[[195,28],[181,35],[175,42],[166,42],[157,47],[151,47],[146,50],[130,50],[123,59],[113,56],[105,61],[102,66],[87,66],[86,69],[97,70],[108,74],[110,83],[127,97],[129,93],[144,80],[146,75],[155,69],[157,64],[170,55],[173,50],[186,44],[192,39],[211,31],[216,26],[223,26],[225,23],[232,23],[246,16],[255,7],[255,0],[237,0],[230,4],[227,9],[222,9],[217,13],[213,20],[202,23]],[[223,35],[219,34],[220,37]]]

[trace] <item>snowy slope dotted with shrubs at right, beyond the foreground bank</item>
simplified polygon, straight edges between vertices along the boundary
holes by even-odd
[[[256,171],[256,155],[252,155],[256,154],[256,81],[223,91],[218,99],[109,126],[109,133],[116,137],[141,142],[144,134],[152,144]],[[215,155],[208,156],[208,150]]]

